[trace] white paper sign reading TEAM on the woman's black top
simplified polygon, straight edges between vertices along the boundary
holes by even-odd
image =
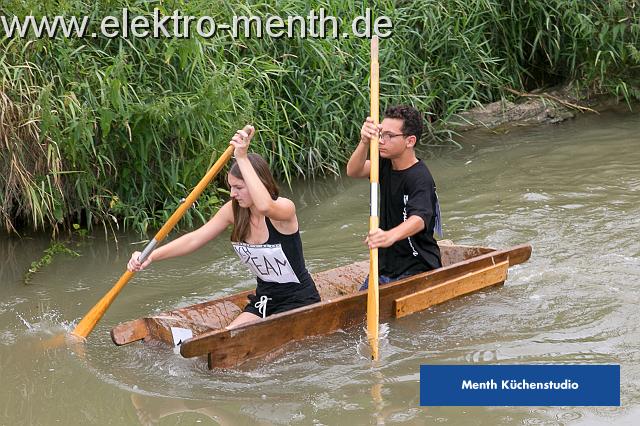
[[[280,244],[232,244],[256,277],[271,283],[300,283]]]

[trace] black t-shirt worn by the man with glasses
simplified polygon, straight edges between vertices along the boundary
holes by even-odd
[[[393,170],[391,160],[380,159],[380,229],[389,230],[419,216],[424,229],[391,247],[378,249],[380,275],[395,278],[442,266],[433,237],[438,211],[436,184],[427,166],[418,160],[405,170]]]

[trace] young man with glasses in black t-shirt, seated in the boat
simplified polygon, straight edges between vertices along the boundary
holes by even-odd
[[[379,135],[380,228],[370,231],[366,242],[379,249],[380,284],[442,266],[433,236],[442,234],[436,185],[415,153],[422,129],[422,114],[411,106],[388,108],[378,127],[367,117],[347,164],[348,176],[368,178],[369,142]],[[367,286],[368,278],[362,289]]]

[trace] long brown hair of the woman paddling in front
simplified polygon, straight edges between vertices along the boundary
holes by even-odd
[[[271,170],[269,170],[267,162],[260,155],[253,152],[248,154],[248,158],[251,166],[253,166],[253,170],[256,171],[260,181],[262,181],[262,184],[267,188],[271,198],[274,200],[278,199],[280,189],[271,174]],[[229,170],[229,174],[233,177],[244,180],[242,178],[242,173],[240,173],[238,163],[233,163],[231,170]],[[240,207],[235,199],[231,201],[231,207],[233,208],[233,231],[231,231],[231,241],[243,242],[247,239],[249,232],[251,231],[251,211],[246,207]]]

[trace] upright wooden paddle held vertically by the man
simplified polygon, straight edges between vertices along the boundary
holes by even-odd
[[[378,36],[371,39],[371,118],[377,127],[380,121],[380,66],[378,63]],[[378,219],[378,136],[371,138],[369,144],[371,184],[369,231],[379,226]],[[371,346],[371,359],[378,359],[378,320],[380,316],[378,293],[378,249],[369,249],[369,291],[367,293],[367,335]]]

